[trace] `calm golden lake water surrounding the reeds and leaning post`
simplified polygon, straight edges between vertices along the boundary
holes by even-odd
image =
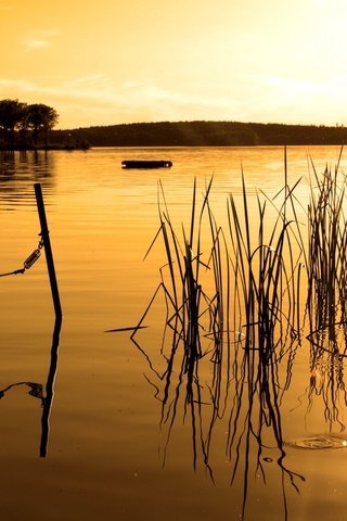
[[[287,149],[304,227],[312,164],[321,175],[338,156],[338,147]],[[174,166],[123,169],[126,158]],[[283,341],[264,369],[271,389],[256,380],[249,394],[257,347],[245,363],[244,347],[229,345],[219,370],[207,335],[189,380],[163,287],[131,338],[167,277],[163,240],[150,249],[158,204],[181,241],[194,179],[200,208],[213,178],[209,203],[227,237],[227,202],[231,193],[242,205],[243,173],[256,230],[258,196],[269,220],[278,216],[284,170],[277,147],[2,154],[0,274],[21,269],[39,245],[40,183],[63,309],[56,325],[44,247],[24,274],[0,277],[2,519],[347,519],[344,356],[335,364],[320,352],[312,365],[305,335]]]

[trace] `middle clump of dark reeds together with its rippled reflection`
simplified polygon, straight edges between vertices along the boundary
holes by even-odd
[[[264,439],[269,440],[269,436],[279,450],[278,462],[283,478],[288,476],[295,487],[295,480],[301,479],[284,465],[280,407],[288,381],[281,381],[279,364],[286,359],[287,371],[282,373],[291,373],[291,353],[295,350],[300,329],[299,284],[295,281],[300,277],[303,238],[295,213],[294,190],[297,183],[288,187],[286,169],[284,188],[274,200],[261,193],[256,195],[256,213],[247,196],[243,174],[242,186],[241,203],[237,205],[231,194],[228,205],[234,275],[233,329],[240,331],[240,342],[233,366],[233,403],[229,411],[227,454],[233,461],[232,483],[241,462],[244,466],[243,519],[254,444],[258,447],[254,470],[258,470],[264,479],[261,455]],[[269,226],[268,219],[269,205],[277,216],[272,226]],[[283,498],[285,504],[284,491]]]

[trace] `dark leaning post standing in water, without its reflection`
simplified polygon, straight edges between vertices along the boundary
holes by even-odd
[[[55,269],[54,269],[53,255],[52,255],[51,241],[50,241],[50,232],[49,232],[49,229],[48,229],[48,226],[47,226],[47,218],[46,218],[46,212],[44,212],[41,183],[36,182],[34,185],[34,188],[35,188],[37,209],[38,209],[39,218],[40,218],[41,237],[42,237],[43,246],[44,246],[44,254],[46,254],[48,274],[49,274],[49,277],[50,277],[50,283],[51,283],[51,291],[52,291],[52,298],[53,298],[53,304],[54,304],[55,316],[56,317],[62,317],[62,306],[61,306],[61,300],[60,300],[60,296],[59,296],[56,277],[55,277]]]

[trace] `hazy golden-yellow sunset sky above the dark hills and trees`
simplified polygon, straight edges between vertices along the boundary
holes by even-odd
[[[0,0],[0,99],[57,128],[347,124],[346,0]]]

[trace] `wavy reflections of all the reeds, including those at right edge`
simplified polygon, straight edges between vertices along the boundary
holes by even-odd
[[[155,399],[160,402],[159,425],[164,436],[163,465],[176,423],[190,425],[192,465],[196,470],[203,462],[215,482],[214,460],[224,450],[231,468],[231,485],[243,481],[241,519],[246,519],[255,475],[267,482],[267,473],[278,466],[281,479],[278,493],[282,496],[281,519],[288,519],[287,484],[300,492],[305,475],[286,462],[287,450],[340,449],[347,446],[344,435],[343,411],[347,406],[344,377],[344,356],[338,354],[338,340],[345,331],[336,327],[335,343],[321,332],[311,334],[310,380],[306,389],[308,402],[306,419],[318,402],[323,412],[325,431],[307,437],[287,440],[281,416],[285,393],[293,380],[293,365],[301,351],[301,341],[286,336],[283,343],[272,345],[267,357],[261,356],[248,340],[258,335],[258,326],[252,325],[252,335],[229,335],[222,346],[223,357],[216,358],[216,346],[202,339],[202,356],[189,356],[189,350],[180,329],[166,323],[160,343],[162,361],[153,350],[146,350],[139,341],[132,341],[144,354],[149,364],[145,378],[154,389]],[[340,331],[338,331],[340,330]],[[343,345],[344,342],[343,342]],[[220,352],[219,347],[218,351]],[[159,370],[164,364],[164,370]],[[226,378],[228,376],[228,378]],[[293,386],[291,389],[293,393]],[[300,397],[303,402],[303,396]],[[227,428],[226,428],[227,425]],[[227,443],[220,445],[220,430],[227,432]],[[269,467],[270,463],[270,467]],[[272,463],[272,465],[271,465]],[[293,465],[293,462],[292,462]]]

